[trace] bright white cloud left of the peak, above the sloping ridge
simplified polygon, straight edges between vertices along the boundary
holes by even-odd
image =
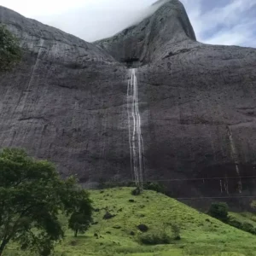
[[[3,3],[2,3],[3,2]],[[72,33],[86,41],[113,36],[155,10],[155,0],[1,0],[21,15]]]

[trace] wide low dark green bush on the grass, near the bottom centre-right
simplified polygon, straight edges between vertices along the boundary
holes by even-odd
[[[170,244],[172,238],[166,232],[148,232],[140,236],[140,241],[146,245]]]

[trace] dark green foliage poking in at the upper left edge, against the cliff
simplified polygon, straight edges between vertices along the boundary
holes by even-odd
[[[7,71],[21,59],[18,39],[0,24],[0,72]]]

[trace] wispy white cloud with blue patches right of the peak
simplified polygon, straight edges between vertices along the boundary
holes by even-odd
[[[256,47],[256,2],[231,0],[224,6],[203,11],[207,0],[182,0],[199,41]]]

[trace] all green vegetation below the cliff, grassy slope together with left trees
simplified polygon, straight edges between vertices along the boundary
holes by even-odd
[[[253,213],[212,204],[209,212],[228,216],[233,227],[153,190],[132,195],[134,189],[91,190],[89,198],[48,161],[3,149],[0,255],[256,256]]]

